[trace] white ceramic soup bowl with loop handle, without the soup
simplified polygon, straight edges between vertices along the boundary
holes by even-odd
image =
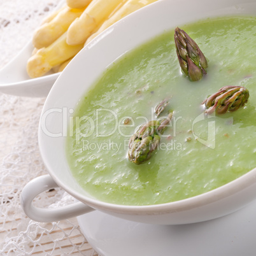
[[[234,13],[256,14],[256,1],[162,0],[120,20],[83,48],[59,76],[46,99],[39,124],[39,148],[50,175],[36,178],[25,186],[21,196],[25,213],[34,220],[49,222],[100,210],[136,222],[187,224],[227,215],[255,199],[256,168],[227,185],[182,201],[151,206],[104,203],[85,194],[76,183],[65,155],[64,112],[75,108],[111,62],[176,25]],[[45,129],[55,134],[55,138],[46,134]],[[34,208],[32,199],[57,185],[80,202],[57,210]]]

